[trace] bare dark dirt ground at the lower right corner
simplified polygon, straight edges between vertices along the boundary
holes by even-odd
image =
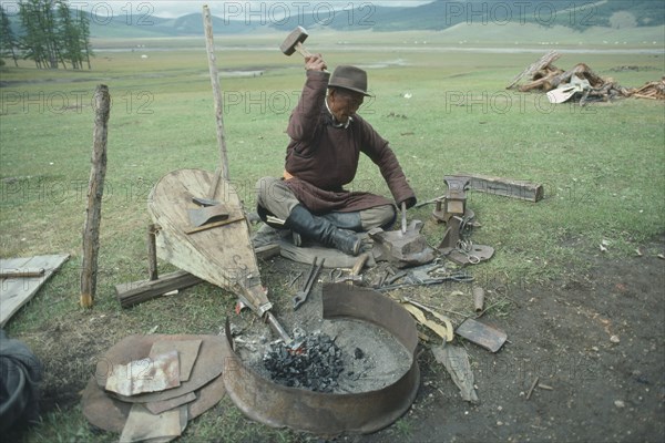
[[[661,237],[643,250],[663,254],[664,245]],[[462,343],[481,404],[463,402],[423,348],[407,424],[345,441],[664,441],[665,260],[586,258],[590,272],[511,291],[511,315],[487,319],[509,334],[499,353]],[[536,378],[551,390],[526,399]]]

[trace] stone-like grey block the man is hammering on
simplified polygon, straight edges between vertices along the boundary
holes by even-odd
[[[374,255],[377,261],[389,261],[398,268],[424,265],[434,259],[434,250],[427,244],[420,230],[421,220],[413,220],[406,234],[399,230],[371,229],[368,234],[375,240]]]

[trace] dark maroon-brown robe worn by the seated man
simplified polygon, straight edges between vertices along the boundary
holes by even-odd
[[[347,128],[334,125],[325,103],[329,78],[328,72],[307,71],[303,95],[290,115],[285,169],[294,178],[286,181],[288,187],[301,204],[319,214],[392,204],[379,195],[344,188],[354,181],[364,153],[379,166],[395,203],[415,205],[416,195],[397,157],[369,123],[356,114]]]

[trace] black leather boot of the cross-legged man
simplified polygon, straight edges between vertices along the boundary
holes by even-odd
[[[330,222],[313,215],[301,205],[293,208],[286,219],[285,226],[305,238],[310,238],[325,246],[334,247],[349,256],[360,254],[361,240],[356,235],[338,229]]]

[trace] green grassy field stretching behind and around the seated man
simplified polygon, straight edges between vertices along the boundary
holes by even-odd
[[[438,34],[424,37],[436,42]],[[248,209],[255,204],[256,179],[283,169],[284,128],[303,82],[297,54],[287,59],[266,48],[270,43],[276,48],[280,40],[275,39],[256,38],[254,48],[243,48],[245,41],[224,40],[228,50],[217,53],[231,177]],[[380,39],[368,34],[367,40],[371,43],[367,50],[349,52],[345,44],[328,44],[325,55],[331,68],[341,63],[367,66],[376,99],[367,101],[360,113],[391,142],[420,200],[442,195],[443,175],[459,172],[544,185],[545,198],[538,204],[470,194],[469,204],[482,223],[473,240],[497,249],[491,261],[473,270],[478,279],[548,284],[585,266],[576,254],[580,249],[602,254],[604,243],[605,254],[630,256],[638,244],[665,230],[662,102],[554,106],[544,95],[505,90],[540,53],[447,51],[436,43],[413,51],[403,34]],[[131,41],[125,43],[131,45]],[[217,43],[222,44],[219,39]],[[190,49],[196,44],[198,49]],[[156,50],[160,45],[171,50]],[[652,48],[651,42],[646,48]],[[641,86],[664,75],[662,53],[564,54],[555,64],[570,69],[579,62],[624,86]],[[640,69],[615,70],[626,65]],[[256,71],[260,75],[252,74]],[[186,306],[178,318],[170,310],[173,301],[122,311],[113,289],[145,276],[146,198],[153,184],[170,171],[213,171],[218,162],[203,42],[149,42],[147,48],[125,52],[99,50],[92,71],[37,71],[24,62],[18,69],[4,66],[0,73],[0,254],[72,255],[9,323],[9,334],[22,338],[48,360],[49,343],[40,337],[72,318],[117,320],[121,329],[83,340],[99,346],[110,346],[123,334],[146,332],[155,324],[164,333],[217,333],[221,316],[233,306],[233,297],[219,289],[202,286],[187,291],[181,300],[184,305],[178,305],[181,309]],[[78,267],[92,147],[91,100],[100,83],[109,86],[113,105],[98,301],[92,311],[84,311],[78,307]],[[351,186],[389,194],[365,159]],[[430,212],[431,206],[423,207],[411,210],[409,217],[427,220]],[[443,229],[428,223],[424,234],[436,246]],[[78,361],[72,377],[86,373],[90,361]],[[263,426],[244,426],[231,402],[223,403],[217,413],[197,420],[184,441],[294,437]],[[91,434],[84,423],[78,403],[70,402],[52,409],[25,439],[113,440]]]

